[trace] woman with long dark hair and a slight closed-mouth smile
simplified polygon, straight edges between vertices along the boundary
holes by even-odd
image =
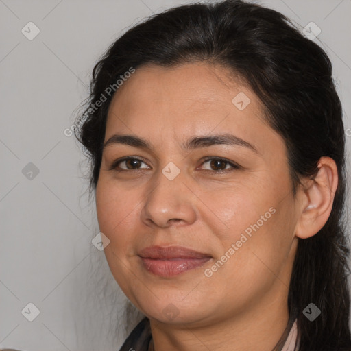
[[[240,0],[152,16],[97,63],[76,134],[108,265],[146,316],[121,350],[351,350],[331,73]]]

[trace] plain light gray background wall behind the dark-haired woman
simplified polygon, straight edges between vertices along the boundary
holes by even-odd
[[[99,229],[86,164],[64,130],[108,45],[145,16],[191,2],[0,0],[0,347],[117,350],[140,319],[130,319],[128,330],[117,326],[124,324],[125,297],[104,252],[91,244]],[[301,28],[313,21],[322,29],[316,41],[332,60],[351,128],[351,1],[261,3]],[[40,29],[34,40],[21,33],[29,21]],[[32,180],[22,173],[29,162],[39,169]],[[40,310],[33,322],[21,313],[29,302]]]

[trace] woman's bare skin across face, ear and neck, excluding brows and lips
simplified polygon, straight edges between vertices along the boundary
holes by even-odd
[[[96,205],[100,231],[110,240],[104,250],[108,265],[125,295],[149,317],[156,351],[272,350],[289,318],[298,237],[316,234],[332,208],[335,162],[321,158],[315,180],[303,180],[294,197],[284,140],[265,122],[252,90],[229,73],[204,63],[143,66],[119,88],[108,112],[105,142],[118,133],[152,145],[104,148]],[[243,110],[232,103],[240,92],[250,98]],[[193,136],[221,133],[234,134],[257,152],[223,144],[182,149]],[[125,156],[142,161],[129,165],[134,170],[128,162],[119,164],[120,172],[110,169]],[[211,166],[206,156],[240,168]],[[162,173],[169,162],[180,170],[173,180]],[[228,171],[220,173],[220,167]],[[206,276],[205,269],[269,208],[275,213]],[[161,278],[138,257],[152,245],[180,245],[212,258],[203,267]],[[163,313],[169,304],[175,317]]]

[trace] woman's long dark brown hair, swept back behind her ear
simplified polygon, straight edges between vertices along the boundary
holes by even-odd
[[[84,123],[80,116],[75,129],[90,158],[90,189],[99,178],[113,97],[107,96],[106,88],[130,67],[197,61],[226,66],[261,99],[265,119],[287,145],[294,194],[302,177],[316,174],[319,158],[335,160],[339,184],[332,212],[322,230],[299,239],[289,313],[298,320],[301,351],[351,350],[341,103],[326,53],[279,12],[241,0],[194,3],[155,14],[116,40],[93,70]],[[107,101],[91,110],[101,95]],[[322,311],[313,322],[302,313],[311,302]]]

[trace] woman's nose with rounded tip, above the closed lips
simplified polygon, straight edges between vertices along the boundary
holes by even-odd
[[[191,192],[191,186],[184,184],[182,172],[173,180],[160,172],[152,186],[141,210],[143,223],[167,228],[186,226],[196,220],[196,196]]]

